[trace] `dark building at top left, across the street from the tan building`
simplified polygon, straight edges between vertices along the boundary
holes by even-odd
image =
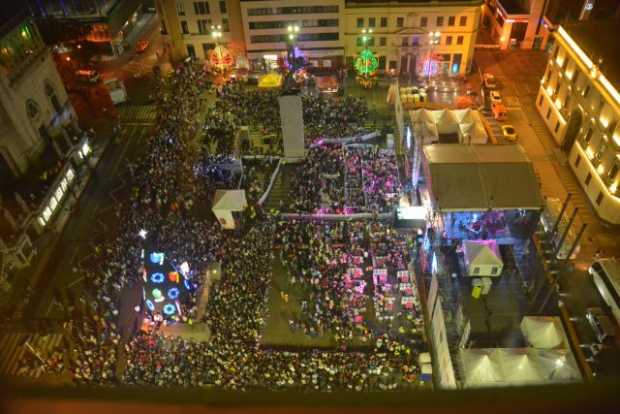
[[[86,27],[86,41],[102,55],[120,55],[125,39],[144,13],[143,0],[28,0],[37,19],[78,22]]]

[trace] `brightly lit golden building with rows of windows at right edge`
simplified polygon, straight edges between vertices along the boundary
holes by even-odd
[[[561,25],[536,100],[598,216],[620,224],[618,21]]]

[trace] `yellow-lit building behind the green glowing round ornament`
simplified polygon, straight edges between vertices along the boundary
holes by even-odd
[[[437,72],[464,75],[473,60],[482,1],[351,0],[345,8],[345,49],[348,63],[363,47],[363,29],[372,29],[368,46],[379,59],[379,70],[401,74],[425,72],[429,55]],[[433,44],[430,33],[437,33]]]

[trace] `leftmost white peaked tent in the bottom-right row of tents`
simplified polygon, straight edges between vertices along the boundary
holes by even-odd
[[[466,387],[501,385],[503,374],[494,349],[461,350]]]

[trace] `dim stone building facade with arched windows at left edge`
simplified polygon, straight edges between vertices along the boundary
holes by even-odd
[[[75,111],[50,51],[30,19],[0,28],[0,176],[19,176],[63,126],[77,126]]]

